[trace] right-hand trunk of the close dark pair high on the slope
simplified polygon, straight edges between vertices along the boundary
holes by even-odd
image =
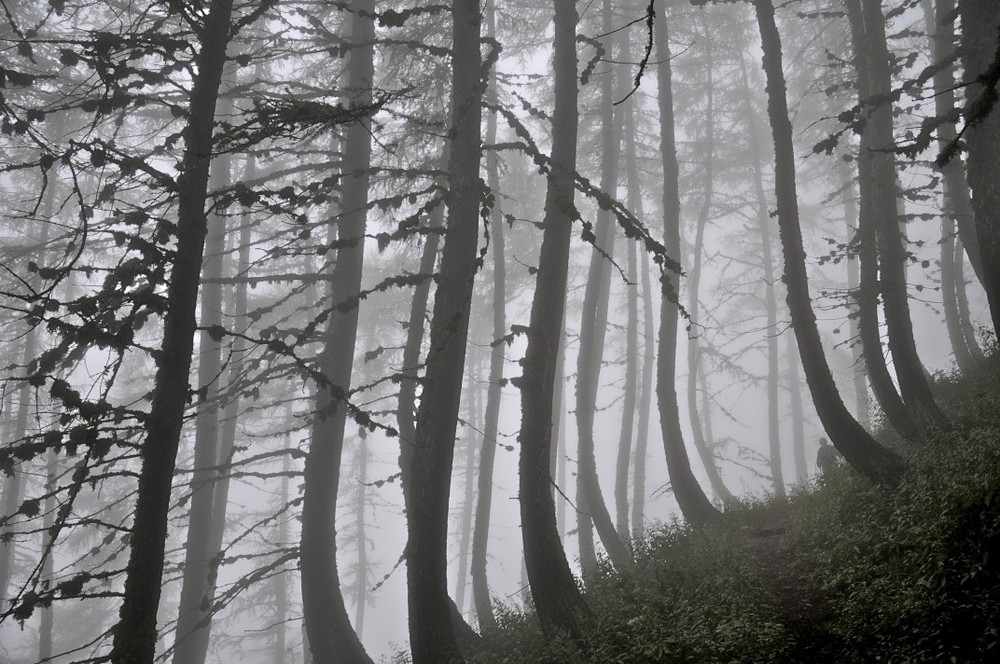
[[[906,286],[906,248],[899,223],[897,178],[892,125],[892,80],[885,18],[881,0],[845,0],[858,69],[862,107],[871,106],[862,134],[859,159],[869,164],[869,195],[861,206],[871,206],[878,246],[879,285],[900,396],[910,419],[921,432],[946,429],[947,419],[938,408],[917,355]],[[864,214],[864,212],[862,212]],[[926,433],[925,433],[926,436]]]

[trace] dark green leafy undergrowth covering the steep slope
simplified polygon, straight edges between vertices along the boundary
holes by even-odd
[[[1000,661],[1000,354],[938,376],[955,430],[914,448],[894,488],[841,467],[720,523],[660,526],[606,564],[582,643],[499,606],[475,664]]]

